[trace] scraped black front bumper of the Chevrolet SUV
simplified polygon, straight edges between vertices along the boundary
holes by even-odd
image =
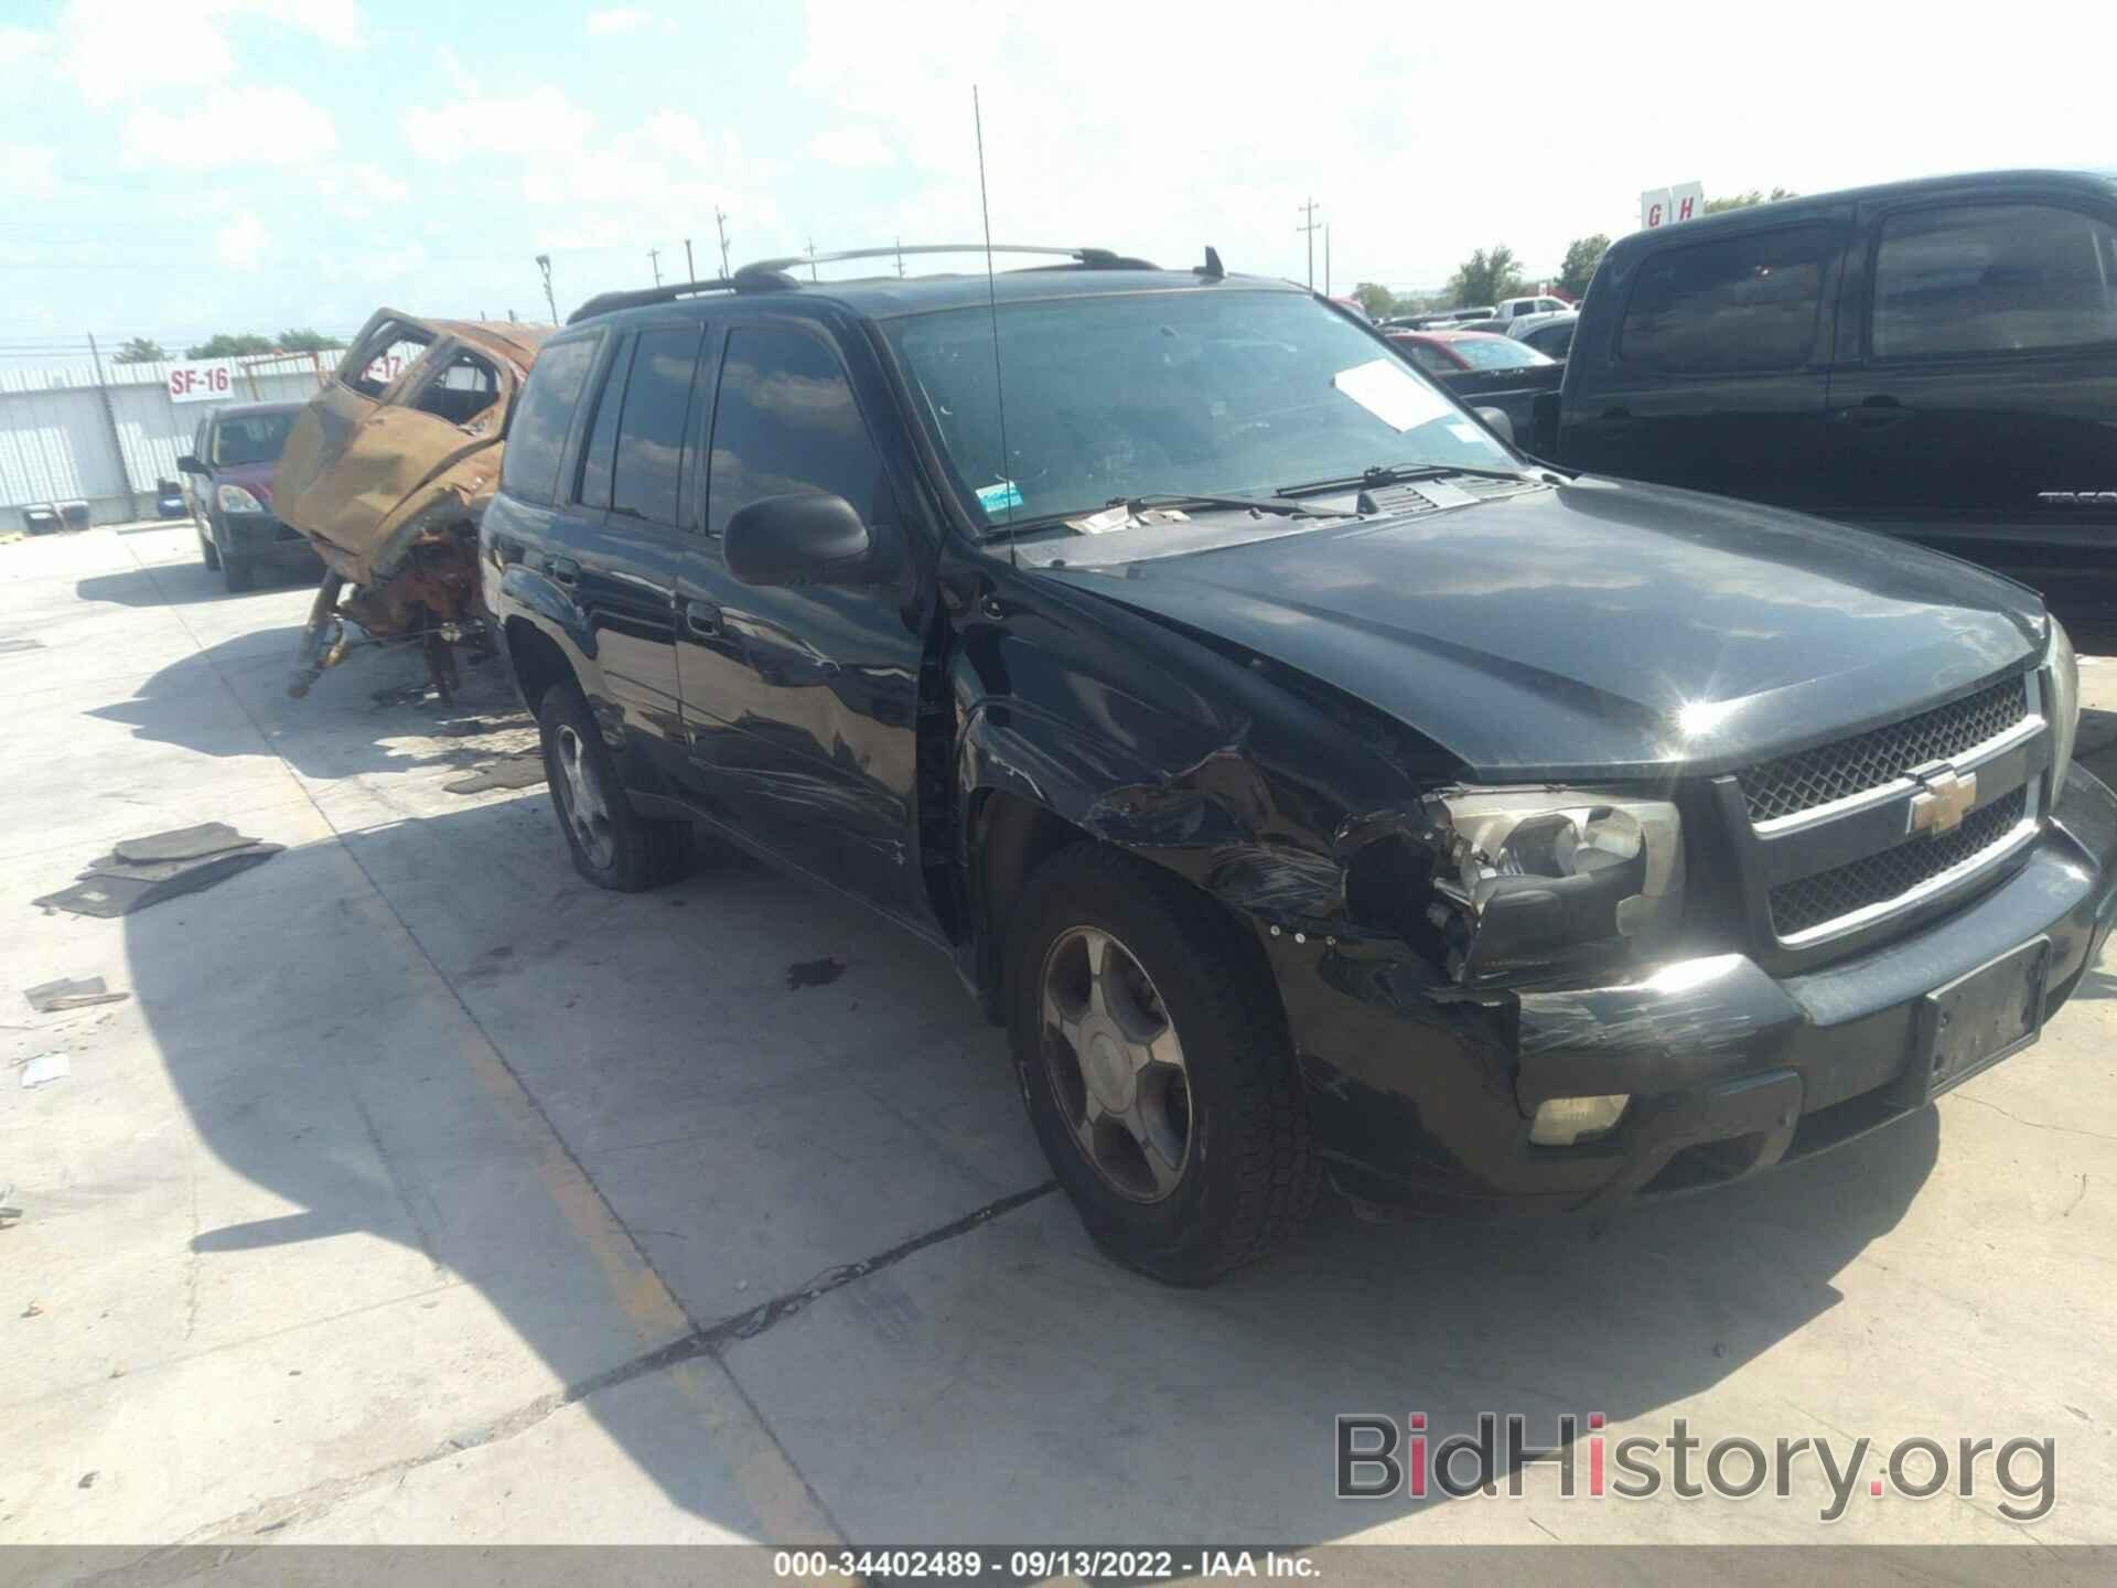
[[[1281,936],[1266,951],[1340,1190],[1370,1207],[1526,1213],[1736,1179],[1916,1112],[1929,993],[2043,942],[2049,1018],[2113,921],[2117,796],[2073,769],[2003,883],[1802,976],[1715,955],[1622,987],[1471,993],[1353,946]],[[1528,1141],[1537,1103],[1605,1093],[1632,1097],[1607,1137]]]

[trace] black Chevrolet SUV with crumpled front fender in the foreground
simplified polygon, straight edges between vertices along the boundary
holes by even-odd
[[[777,263],[544,343],[481,567],[580,874],[705,824],[931,940],[1173,1281],[1325,1173],[1666,1192],[2037,1037],[2117,800],[2032,593],[1533,464],[1207,258]]]

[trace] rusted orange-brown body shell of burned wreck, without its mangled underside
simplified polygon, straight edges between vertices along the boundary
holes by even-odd
[[[370,337],[387,324],[434,337],[379,396],[351,385]],[[423,531],[476,525],[500,483],[500,443],[548,326],[421,320],[381,309],[315,394],[279,459],[277,506],[343,580],[375,591]],[[466,423],[411,407],[455,349],[483,354],[500,398]]]

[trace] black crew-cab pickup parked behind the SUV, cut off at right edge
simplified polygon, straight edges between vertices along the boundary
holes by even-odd
[[[1783,199],[1609,250],[1537,451],[2117,593],[2117,178]]]

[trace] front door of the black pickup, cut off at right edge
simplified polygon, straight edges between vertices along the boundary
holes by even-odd
[[[2113,572],[2117,205],[1861,207],[1823,512],[2049,587]]]

